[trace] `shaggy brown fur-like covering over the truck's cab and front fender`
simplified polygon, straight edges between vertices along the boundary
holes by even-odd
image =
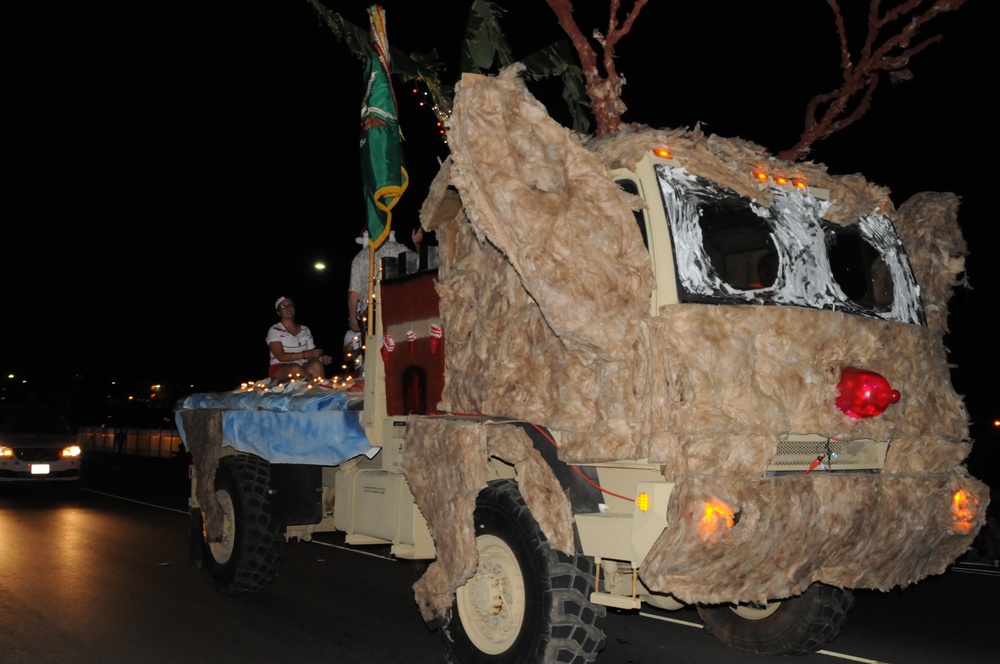
[[[920,194],[897,213],[888,190],[860,175],[779,162],[697,128],[586,140],[552,121],[516,70],[464,78],[448,136],[451,157],[421,210],[441,245],[448,353],[439,410],[557,430],[570,463],[662,464],[676,487],[671,525],[640,570],[649,588],[703,603],[787,597],[813,581],[888,589],[944,571],[970,545],[989,493],[962,465],[968,414],[942,343],[966,252],[957,197]],[[797,307],[683,304],[652,315],[652,266],[632,215],[641,201],[609,169],[664,144],[690,172],[758,200],[769,190],[746,173],[766,164],[830,190],[832,222],[885,212],[928,326]],[[902,399],[881,417],[845,417],[833,402],[848,366],[891,377]],[[779,437],[795,433],[889,440],[886,467],[764,478]],[[530,443],[447,418],[411,422],[406,440],[407,478],[439,556],[416,596],[425,617],[440,618],[476,566],[472,512],[491,450],[520,459],[522,471]],[[558,487],[534,461],[518,475],[525,501],[569,550],[568,507],[549,488],[536,491]],[[955,534],[946,521],[962,483],[980,509],[971,531]],[[740,519],[706,543],[691,528],[711,496]]]

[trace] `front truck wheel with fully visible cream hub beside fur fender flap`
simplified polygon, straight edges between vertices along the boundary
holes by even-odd
[[[512,480],[479,494],[475,528],[479,567],[456,591],[442,630],[448,660],[593,662],[606,616],[590,603],[593,560],[551,548]]]

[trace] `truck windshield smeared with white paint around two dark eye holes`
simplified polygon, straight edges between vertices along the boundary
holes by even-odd
[[[829,202],[775,190],[765,207],[682,168],[656,166],[683,302],[771,304],[923,324],[892,223],[822,219]]]

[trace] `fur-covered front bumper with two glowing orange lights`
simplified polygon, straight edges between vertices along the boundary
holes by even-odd
[[[701,604],[782,599],[813,582],[905,587],[961,556],[988,504],[963,469],[681,479],[639,573],[651,590]]]

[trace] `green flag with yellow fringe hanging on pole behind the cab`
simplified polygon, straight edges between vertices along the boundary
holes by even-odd
[[[373,249],[389,237],[392,208],[406,191],[396,100],[389,74],[374,57],[365,63],[367,91],[361,107],[361,178],[368,213],[368,241]]]

